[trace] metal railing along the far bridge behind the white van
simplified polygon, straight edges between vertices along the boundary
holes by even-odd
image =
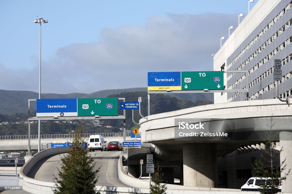
[[[83,137],[89,137],[90,135],[102,135],[102,137],[123,137],[121,133],[84,133]],[[30,139],[38,139],[39,135],[30,135]],[[131,136],[131,131],[126,130],[126,137]],[[58,139],[58,138],[73,138],[75,133],[72,134],[49,134],[41,135],[41,139]],[[24,140],[28,139],[28,135],[4,135],[0,136],[0,140]]]

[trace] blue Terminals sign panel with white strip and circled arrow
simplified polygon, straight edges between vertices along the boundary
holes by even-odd
[[[36,99],[36,117],[74,117],[77,115],[77,98]]]

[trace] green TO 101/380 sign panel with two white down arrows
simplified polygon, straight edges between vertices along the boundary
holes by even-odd
[[[182,90],[223,90],[223,71],[181,72]]]

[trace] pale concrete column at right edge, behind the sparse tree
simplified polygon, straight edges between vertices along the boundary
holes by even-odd
[[[280,154],[280,163],[282,163],[286,158],[286,170],[281,173],[284,176],[289,169],[292,170],[292,133],[287,131],[280,132],[280,148],[283,147],[283,151]],[[292,193],[292,174],[287,176],[286,181],[283,182],[281,186],[282,192]]]

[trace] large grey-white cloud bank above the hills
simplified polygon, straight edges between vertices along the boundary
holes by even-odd
[[[100,42],[68,45],[42,59],[42,92],[147,87],[148,71],[213,70],[211,54],[236,22],[237,15],[168,14],[149,18],[145,26],[103,29]],[[0,79],[6,82],[2,89],[37,92],[38,61],[34,60],[34,70],[13,71],[0,64]]]

